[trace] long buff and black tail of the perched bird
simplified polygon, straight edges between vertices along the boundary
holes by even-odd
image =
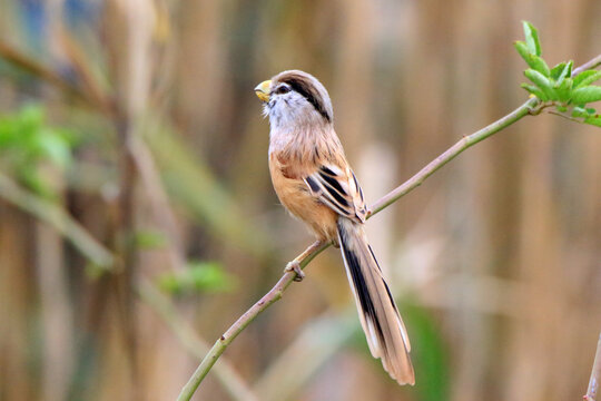
[[[370,351],[400,384],[414,384],[411,344],[363,226],[338,218],[338,241]]]

